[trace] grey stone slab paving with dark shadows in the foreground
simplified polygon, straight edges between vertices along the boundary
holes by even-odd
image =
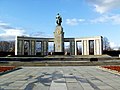
[[[120,90],[120,76],[97,66],[22,67],[0,76],[0,90]]]

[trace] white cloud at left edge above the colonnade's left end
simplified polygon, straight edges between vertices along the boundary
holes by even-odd
[[[16,36],[29,36],[24,29],[14,28],[4,22],[0,22],[0,29],[3,31],[3,33],[0,33],[0,40],[4,41],[15,40]]]

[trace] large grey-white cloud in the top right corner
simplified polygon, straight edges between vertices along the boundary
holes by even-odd
[[[120,8],[120,0],[86,0],[92,4],[98,13],[106,13],[110,10]]]

